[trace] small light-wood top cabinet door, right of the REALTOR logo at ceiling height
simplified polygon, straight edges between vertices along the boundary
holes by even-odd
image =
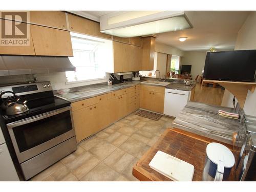
[[[30,23],[68,30],[66,14],[62,11],[30,11]]]

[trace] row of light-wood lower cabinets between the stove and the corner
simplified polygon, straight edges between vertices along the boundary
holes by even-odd
[[[140,107],[139,86],[72,103],[77,142],[99,132]]]

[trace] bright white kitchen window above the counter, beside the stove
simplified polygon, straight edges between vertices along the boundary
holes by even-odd
[[[67,71],[68,82],[106,78],[106,71],[113,66],[112,41],[71,33],[73,57],[69,57],[76,71]]]

